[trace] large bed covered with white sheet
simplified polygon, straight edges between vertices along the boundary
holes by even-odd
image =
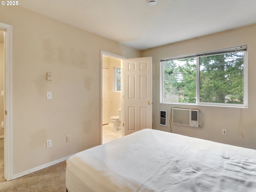
[[[70,157],[68,192],[256,192],[256,150],[144,129]]]

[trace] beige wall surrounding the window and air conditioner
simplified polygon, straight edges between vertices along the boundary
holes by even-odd
[[[142,56],[153,57],[153,128],[170,131],[170,109],[172,107],[201,108],[204,118],[202,129],[172,125],[174,133],[203,138],[216,142],[256,149],[256,25],[237,28],[209,36],[169,44],[145,50]],[[248,108],[242,108],[242,127],[244,138],[239,132],[240,108],[160,104],[160,59],[186,54],[218,50],[233,46],[248,45]],[[159,110],[168,110],[168,126],[159,125]],[[227,136],[222,136],[222,129]]]

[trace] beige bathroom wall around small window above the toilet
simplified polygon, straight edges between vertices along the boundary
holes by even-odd
[[[121,66],[121,60],[109,58],[109,117],[118,116],[118,109],[121,108],[121,92],[113,91],[114,67]]]

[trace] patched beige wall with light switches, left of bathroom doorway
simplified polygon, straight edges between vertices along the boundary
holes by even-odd
[[[140,52],[20,6],[1,6],[0,22],[13,26],[13,174],[99,145],[100,50]]]

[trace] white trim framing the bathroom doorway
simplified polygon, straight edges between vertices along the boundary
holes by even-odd
[[[123,69],[123,60],[126,58],[124,56],[121,56],[121,55],[116,55],[116,54],[113,54],[113,53],[110,53],[110,52],[106,52],[106,51],[102,51],[100,50],[100,144],[102,144],[102,56],[105,55],[105,56],[109,56],[109,57],[114,57],[114,58],[117,58],[117,59],[120,59],[122,60],[122,63],[121,63],[121,69]],[[122,74],[123,74],[123,70],[121,70],[121,79],[122,79]],[[121,92],[122,92],[122,95],[123,95],[123,88],[122,88],[122,84],[121,84]],[[123,111],[123,104],[121,104],[121,111]],[[121,122],[123,123],[123,122]],[[123,131],[122,131],[122,134],[123,134]]]

